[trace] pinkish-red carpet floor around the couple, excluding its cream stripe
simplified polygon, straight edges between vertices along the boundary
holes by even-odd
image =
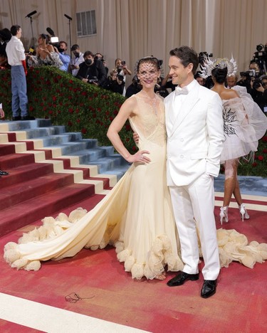
[[[85,208],[92,208],[99,200],[97,196]],[[219,215],[218,207],[215,213]],[[245,233],[248,240],[266,243],[267,213],[250,211],[250,215],[249,221],[242,222],[239,211],[231,208],[231,221],[224,228],[234,228]],[[220,228],[219,218],[216,220]],[[0,238],[0,248],[17,240],[22,230]],[[198,281],[180,287],[166,285],[174,273],[167,273],[164,282],[132,280],[112,247],[83,249],[74,258],[43,263],[37,272],[11,269],[1,255],[0,270],[0,292],[149,332],[267,331],[267,263],[256,263],[253,269],[240,263],[222,268],[217,292],[207,300],[200,297],[201,275]],[[3,320],[0,331],[38,332]]]

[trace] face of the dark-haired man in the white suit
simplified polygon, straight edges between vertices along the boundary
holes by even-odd
[[[176,56],[169,57],[169,75],[174,85],[184,87],[191,82],[193,64],[189,63],[187,67],[182,65],[181,59]]]

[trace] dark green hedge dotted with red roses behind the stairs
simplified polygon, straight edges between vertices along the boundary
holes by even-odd
[[[0,102],[3,103],[6,119],[11,119],[10,70],[0,70],[0,80]],[[51,118],[53,125],[65,125],[70,132],[82,132],[84,138],[98,139],[100,145],[110,145],[106,133],[125,97],[83,83],[50,66],[28,70],[27,83],[31,115]],[[135,152],[128,122],[122,128],[120,137],[127,149]],[[241,162],[239,175],[267,177],[267,136],[259,141],[254,162]]]

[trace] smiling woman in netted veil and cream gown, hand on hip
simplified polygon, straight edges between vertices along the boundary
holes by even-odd
[[[125,262],[125,270],[137,279],[145,275],[163,280],[166,265],[168,270],[182,269],[166,184],[164,104],[154,93],[159,64],[149,57],[137,67],[143,90],[125,101],[108,130],[115,149],[132,166],[92,211],[78,210],[70,218],[60,214],[57,221],[47,218],[40,232],[26,234],[19,244],[8,243],[4,257],[12,267],[36,270],[40,260],[60,260],[83,247],[104,248],[111,243],[118,260]],[[140,136],[140,150],[134,155],[117,134],[127,118]],[[34,237],[36,241],[31,241]]]

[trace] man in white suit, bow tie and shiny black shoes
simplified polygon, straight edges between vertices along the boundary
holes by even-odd
[[[167,285],[199,279],[197,228],[204,258],[201,297],[216,292],[219,250],[214,220],[214,176],[224,142],[221,98],[194,80],[197,53],[188,46],[170,51],[169,75],[176,90],[165,100],[167,185],[172,196],[184,268]]]

